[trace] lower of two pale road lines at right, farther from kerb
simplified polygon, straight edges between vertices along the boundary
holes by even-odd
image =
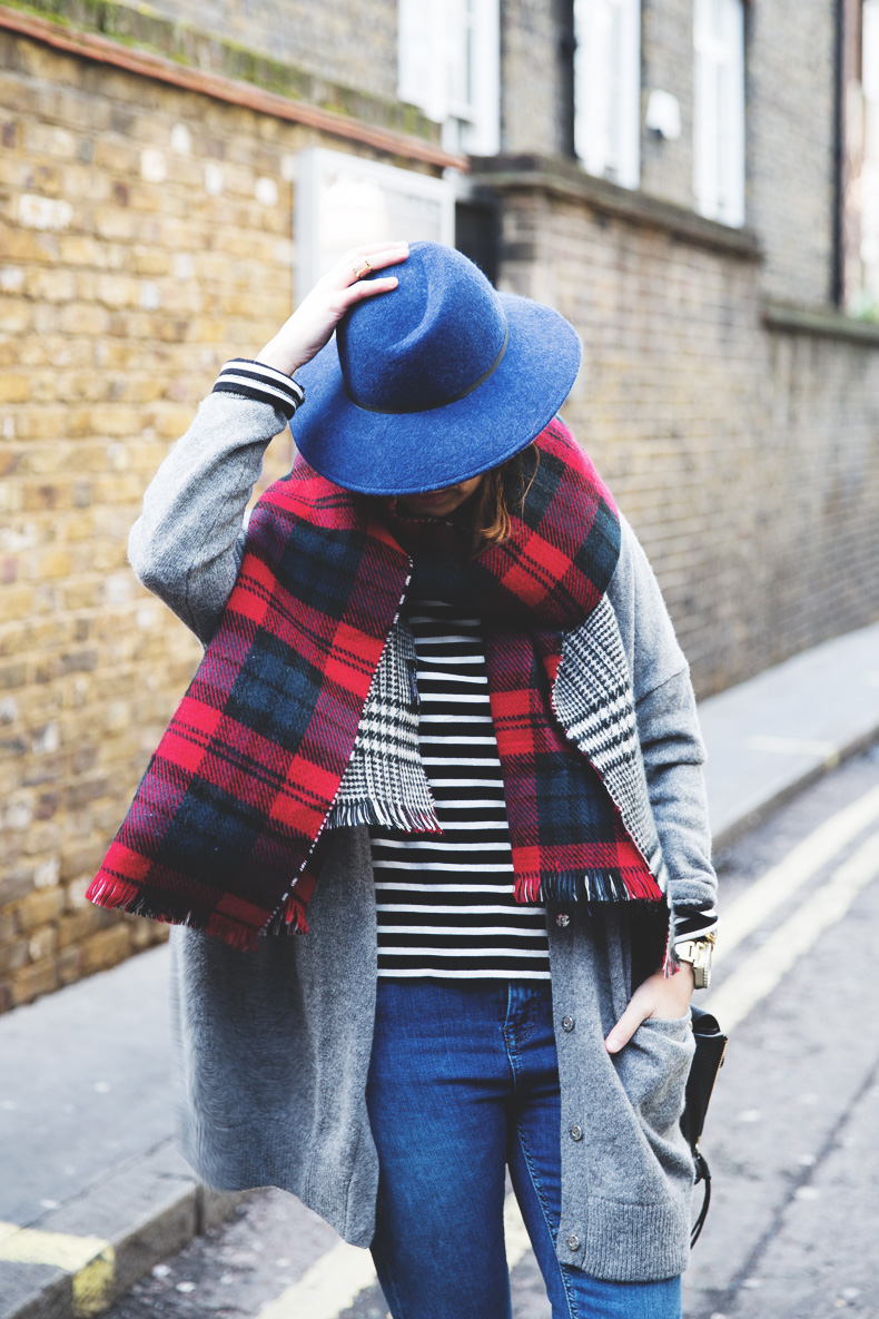
[[[738,1026],[784,979],[795,963],[837,925],[862,889],[879,874],[879,832],[871,834],[826,884],[735,968],[705,1008],[725,1031]]]

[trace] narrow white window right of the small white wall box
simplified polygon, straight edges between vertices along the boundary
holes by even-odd
[[[696,210],[723,224],[745,224],[742,0],[696,0],[693,49]]]

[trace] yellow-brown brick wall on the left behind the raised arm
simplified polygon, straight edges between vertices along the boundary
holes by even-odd
[[[291,311],[295,153],[353,146],[3,32],[0,107],[3,1009],[166,933],[83,900],[200,654],[128,532]]]

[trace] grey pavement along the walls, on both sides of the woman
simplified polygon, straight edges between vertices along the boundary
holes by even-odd
[[[879,624],[700,703],[716,848],[879,736]],[[240,1195],[175,1146],[167,947],[0,1017],[0,1319],[99,1314]]]

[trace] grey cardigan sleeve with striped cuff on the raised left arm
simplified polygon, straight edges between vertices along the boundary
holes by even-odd
[[[245,509],[262,456],[302,397],[300,386],[271,367],[227,363],[144,495],[129,562],[204,644],[241,567]]]

